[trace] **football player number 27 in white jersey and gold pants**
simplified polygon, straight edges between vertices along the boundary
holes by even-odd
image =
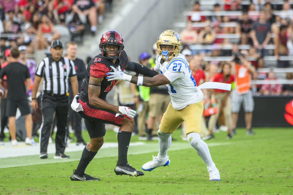
[[[153,156],[153,160],[142,165],[142,170],[151,171],[160,166],[170,164],[167,156],[171,144],[171,134],[186,122],[186,134],[188,141],[197,154],[207,165],[209,180],[219,181],[220,174],[212,161],[207,144],[200,139],[201,118],[203,112],[203,93],[197,89],[196,82],[191,75],[189,64],[184,55],[179,54],[181,39],[173,30],[164,31],[157,40],[158,54],[156,65],[152,70],[159,73],[154,77],[134,76],[136,73],[125,71],[120,68],[107,73],[108,80],[126,80],[137,85],[155,87],[166,85],[171,96],[171,103],[163,114],[158,130],[159,153]]]

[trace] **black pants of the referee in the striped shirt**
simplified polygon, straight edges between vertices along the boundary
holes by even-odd
[[[55,138],[56,153],[64,153],[66,142],[66,122],[68,113],[68,96],[43,93],[41,106],[43,123],[40,132],[40,152],[47,152],[54,112],[57,119]]]

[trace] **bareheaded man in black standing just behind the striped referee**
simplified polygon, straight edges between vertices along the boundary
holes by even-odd
[[[68,42],[66,44],[67,48],[67,55],[65,56],[69,60],[72,60],[74,63],[74,68],[76,71],[77,76],[77,82],[78,82],[78,93],[81,91],[81,84],[86,77],[86,66],[84,64],[84,61],[76,58],[77,53],[77,44],[75,42]],[[74,98],[71,82],[68,83],[68,92],[69,92],[69,108],[68,108],[68,118],[67,118],[67,135],[69,133],[69,122],[71,122],[72,129],[75,131],[75,136],[77,138],[76,145],[82,145],[86,146],[86,143],[84,142],[84,139],[81,136],[81,117],[71,109],[71,102]]]

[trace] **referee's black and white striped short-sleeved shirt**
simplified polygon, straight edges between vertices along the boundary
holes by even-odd
[[[75,76],[74,63],[66,57],[56,62],[52,56],[42,59],[36,69],[36,75],[43,77],[43,90],[63,95],[68,92],[69,77]]]

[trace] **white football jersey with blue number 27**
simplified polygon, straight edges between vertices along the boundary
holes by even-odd
[[[183,109],[188,104],[198,103],[203,99],[203,93],[197,89],[189,63],[184,55],[178,54],[170,61],[164,61],[157,55],[154,70],[163,74],[170,81],[166,87],[171,96],[171,104],[176,110]]]

